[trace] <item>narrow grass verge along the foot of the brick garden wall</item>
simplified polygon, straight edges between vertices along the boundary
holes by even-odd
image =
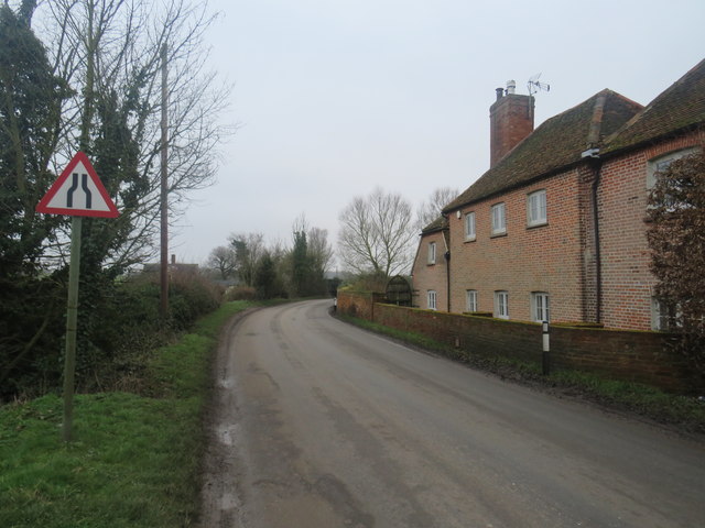
[[[426,336],[404,332],[348,316],[340,319],[398,341],[435,352],[502,378],[531,385],[558,396],[579,397],[607,408],[626,410],[669,425],[681,432],[705,435],[705,400],[666,393],[640,383],[608,380],[594,373],[554,370],[544,376],[539,363],[511,358],[471,355]]]

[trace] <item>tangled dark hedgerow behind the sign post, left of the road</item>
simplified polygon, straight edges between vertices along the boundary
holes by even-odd
[[[90,284],[82,284],[76,346],[77,391],[139,388],[140,372],[151,352],[220,305],[221,288],[197,273],[175,273],[170,278],[170,316],[166,320],[160,317],[158,275],[140,274],[120,280],[98,276]],[[18,346],[8,348],[7,353],[0,354],[3,361],[0,400],[37,396],[61,387],[66,289],[61,280],[51,285],[50,298],[61,297],[61,302],[54,304],[62,306],[52,308],[51,323],[41,334],[42,339],[33,344],[28,342],[28,352],[23,353],[22,343],[18,343]],[[25,289],[29,292],[29,287]],[[17,298],[26,299],[29,304],[29,294],[21,294],[18,292]],[[17,306],[24,305],[18,300]],[[14,361],[17,358],[20,361]]]

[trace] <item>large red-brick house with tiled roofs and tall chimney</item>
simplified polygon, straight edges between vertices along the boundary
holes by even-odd
[[[419,305],[435,290],[444,311],[662,328],[647,197],[659,167],[705,145],[705,61],[647,107],[606,89],[535,130],[533,98],[512,91],[490,108],[489,170],[422,232]],[[440,240],[447,265],[424,262]]]

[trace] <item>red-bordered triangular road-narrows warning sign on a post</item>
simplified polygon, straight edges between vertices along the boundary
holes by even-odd
[[[39,212],[74,217],[117,218],[110,199],[88,156],[76,153],[62,175],[36,205]]]

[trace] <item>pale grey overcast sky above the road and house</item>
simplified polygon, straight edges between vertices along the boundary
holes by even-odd
[[[604,88],[647,105],[705,57],[705,1],[218,0],[212,68],[234,84],[218,180],[173,228],[203,263],[234,232],[336,245],[376,186],[414,207],[489,167],[489,107],[541,73],[539,125]]]

